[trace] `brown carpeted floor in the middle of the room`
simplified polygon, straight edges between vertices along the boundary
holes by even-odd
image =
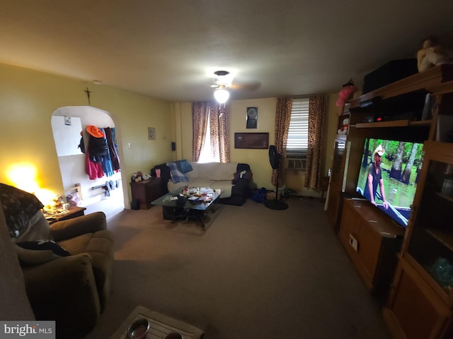
[[[112,293],[86,339],[110,338],[137,305],[204,329],[204,339],[391,338],[323,203],[286,202],[224,206],[201,236],[153,227],[156,207],[115,215]]]

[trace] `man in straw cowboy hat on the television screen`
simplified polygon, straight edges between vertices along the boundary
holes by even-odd
[[[365,184],[365,189],[363,190],[363,195],[367,198],[374,206],[377,206],[375,201],[377,194],[377,186],[379,185],[379,191],[381,192],[382,205],[385,209],[389,208],[389,204],[385,199],[384,191],[384,181],[382,180],[382,155],[384,155],[385,150],[382,148],[382,145],[377,146],[374,150],[373,156],[374,161],[368,166],[368,175],[367,175],[367,184]]]

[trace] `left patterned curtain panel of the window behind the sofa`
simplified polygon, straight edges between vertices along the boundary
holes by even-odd
[[[206,137],[210,102],[192,102],[193,161],[198,161]]]

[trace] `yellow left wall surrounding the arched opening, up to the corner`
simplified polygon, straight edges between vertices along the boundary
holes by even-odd
[[[109,112],[115,122],[125,203],[130,201],[132,172],[149,172],[152,166],[175,157],[171,103],[0,64],[0,182],[14,184],[8,169],[28,162],[36,168],[40,187],[64,194],[50,119],[59,107],[88,105],[87,87],[91,106]],[[156,128],[156,140],[148,140],[148,127]]]

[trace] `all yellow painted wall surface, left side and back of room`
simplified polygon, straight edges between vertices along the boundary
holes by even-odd
[[[40,187],[63,193],[58,157],[50,119],[59,107],[88,104],[84,90],[91,90],[91,106],[111,115],[117,129],[125,203],[130,201],[130,175],[149,172],[154,165],[175,159],[192,159],[192,109],[190,102],[170,103],[125,90],[0,64],[0,182],[11,165],[29,162],[36,167]],[[325,168],[331,165],[337,129],[336,95],[329,95],[325,137]],[[275,98],[232,100],[231,162],[251,165],[258,187],[273,189],[268,150],[234,148],[235,132],[268,132],[274,143]],[[258,128],[246,129],[246,108],[258,107]],[[156,140],[148,140],[148,127],[156,128]],[[176,141],[176,152],[171,151]],[[129,147],[130,145],[130,147]],[[303,176],[288,178],[288,186],[303,190]]]

